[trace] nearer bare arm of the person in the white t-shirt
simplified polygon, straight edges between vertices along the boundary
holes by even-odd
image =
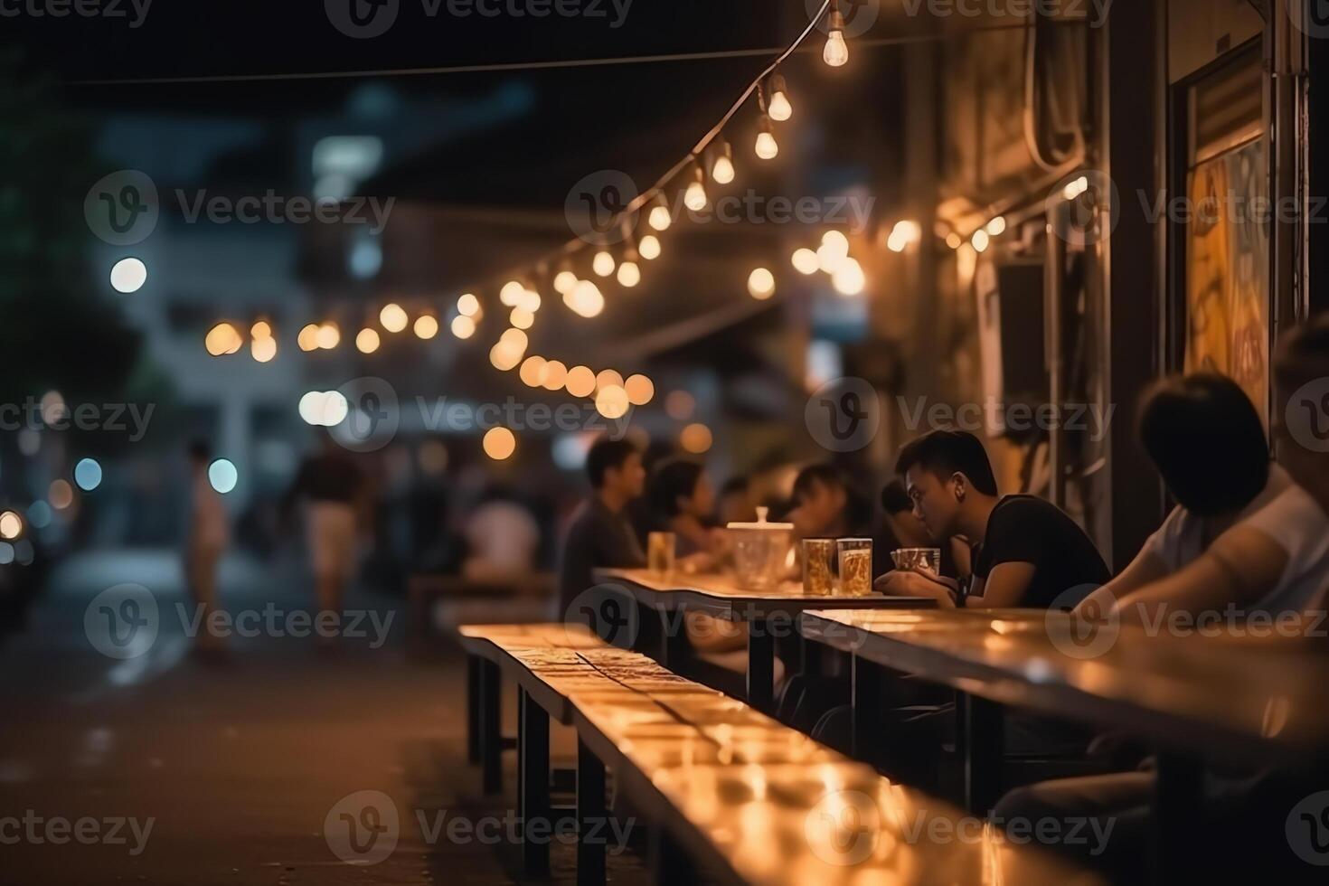
[[[1252,526],[1235,526],[1209,550],[1167,578],[1152,582],[1116,603],[1123,622],[1155,620],[1160,607],[1191,614],[1245,607],[1277,586],[1288,566],[1288,551]]]

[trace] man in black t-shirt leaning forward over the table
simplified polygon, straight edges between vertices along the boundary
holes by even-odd
[[[969,608],[1070,607],[1111,578],[1094,542],[1058,507],[1033,495],[997,494],[987,453],[973,434],[934,430],[920,437],[901,450],[896,470],[934,538],[968,539],[973,578],[962,590],[922,573],[894,571],[877,579],[882,594]],[[1063,598],[1069,591],[1075,594]]]

